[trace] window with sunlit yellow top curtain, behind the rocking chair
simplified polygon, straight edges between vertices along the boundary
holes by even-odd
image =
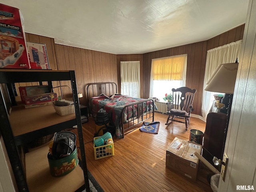
[[[187,54],[152,59],[150,75],[150,97],[163,101],[172,88],[186,86]]]

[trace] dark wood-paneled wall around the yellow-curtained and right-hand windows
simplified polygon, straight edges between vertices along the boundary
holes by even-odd
[[[196,42],[174,48],[143,54],[143,96],[149,96],[151,60],[168,56],[187,54],[186,86],[196,89],[193,114],[202,115],[202,94],[207,50],[235,42],[243,38],[244,25],[224,32],[207,41]],[[166,88],[167,90],[168,88]],[[172,87],[169,88],[170,90]]]

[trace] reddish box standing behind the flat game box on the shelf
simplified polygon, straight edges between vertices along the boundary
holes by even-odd
[[[19,87],[19,91],[20,91],[20,98],[23,103],[25,103],[26,97],[42,95],[44,93],[51,92],[51,90],[49,90],[48,85],[21,86]]]

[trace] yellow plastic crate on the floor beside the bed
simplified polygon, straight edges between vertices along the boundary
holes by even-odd
[[[94,137],[94,140],[99,137]],[[111,139],[112,140],[112,139]],[[112,140],[113,141],[113,140]],[[95,160],[110,157],[114,155],[114,142],[107,145],[96,147],[94,144],[94,158]]]

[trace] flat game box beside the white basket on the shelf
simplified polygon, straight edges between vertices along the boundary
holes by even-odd
[[[25,104],[36,104],[36,103],[44,103],[48,101],[54,101],[58,100],[58,96],[56,93],[45,93],[38,96],[32,96],[32,97],[26,97],[25,98]]]

